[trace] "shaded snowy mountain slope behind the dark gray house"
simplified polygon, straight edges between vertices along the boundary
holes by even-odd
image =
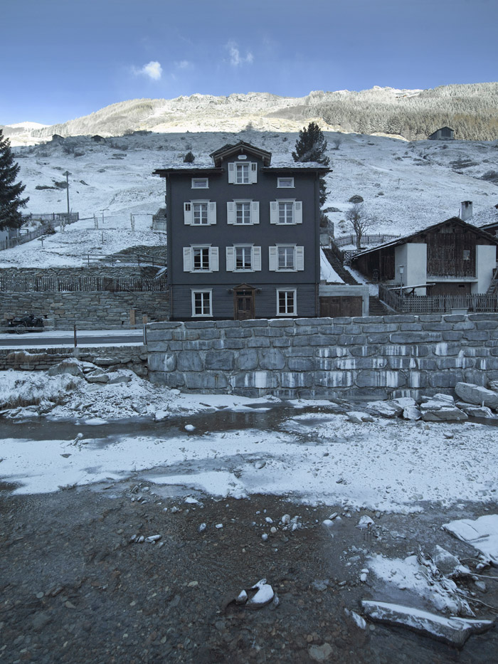
[[[330,212],[336,235],[350,234],[345,219],[349,199],[364,198],[364,208],[375,217],[369,233],[405,235],[417,228],[459,214],[460,202],[473,201],[473,223],[498,219],[498,186],[480,179],[498,172],[498,142],[406,142],[381,136],[325,132],[329,143],[327,176]],[[80,221],[44,242],[33,241],[0,252],[0,267],[7,265],[78,265],[84,253],[112,253],[127,246],[164,242],[164,234],[150,230],[152,214],[164,206],[164,181],[152,176],[160,167],[184,166],[191,150],[194,165],[211,165],[210,152],[243,139],[272,152],[272,164],[293,165],[291,152],[297,132],[245,131],[136,133],[109,138],[104,143],[90,137],[70,137],[32,147],[17,147],[20,178],[30,196],[26,211],[60,212],[66,209],[66,191],[56,182],[70,172],[70,207]],[[333,149],[339,139],[339,149]],[[36,189],[36,187],[53,189]],[[102,211],[104,243],[102,244]],[[130,213],[136,214],[131,233]],[[140,236],[138,236],[140,233]],[[50,247],[53,245],[53,251]]]

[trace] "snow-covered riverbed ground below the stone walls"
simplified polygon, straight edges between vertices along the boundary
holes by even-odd
[[[265,418],[261,428],[252,423],[216,430],[217,413],[263,417],[280,401],[180,394],[132,371],[110,372],[102,384],[101,370],[87,363],[73,362],[71,371],[0,374],[6,421],[41,415],[44,428],[61,418],[74,423],[69,440],[0,441],[0,475],[19,483],[18,492],[49,492],[139,472],[154,483],[213,495],[292,495],[305,502],[406,513],[423,510],[425,501],[447,506],[496,500],[496,427],[380,417],[355,424],[329,401],[292,401],[294,409],[281,419],[275,411],[274,426]],[[88,376],[95,381],[88,382]],[[300,412],[307,406],[320,412]],[[199,414],[205,416],[202,425]],[[112,436],[112,422],[119,418],[141,418],[145,427],[161,422],[161,428]],[[111,426],[78,436],[79,427],[106,423]]]

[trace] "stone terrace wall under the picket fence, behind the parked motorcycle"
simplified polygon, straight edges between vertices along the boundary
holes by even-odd
[[[130,325],[130,310],[135,322],[142,325],[148,320],[168,320],[168,293],[0,293],[0,322],[25,312],[51,319],[55,327],[80,330],[98,330],[103,327]]]

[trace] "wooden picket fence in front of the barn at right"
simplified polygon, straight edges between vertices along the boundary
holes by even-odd
[[[498,295],[405,295],[401,288],[378,286],[378,298],[400,313],[433,314],[466,309],[470,312],[498,312]]]

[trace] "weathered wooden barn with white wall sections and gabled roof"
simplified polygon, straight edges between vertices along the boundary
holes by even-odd
[[[498,238],[452,217],[405,238],[362,251],[351,264],[371,280],[414,288],[415,295],[486,293]],[[422,288],[425,284],[430,288]]]

